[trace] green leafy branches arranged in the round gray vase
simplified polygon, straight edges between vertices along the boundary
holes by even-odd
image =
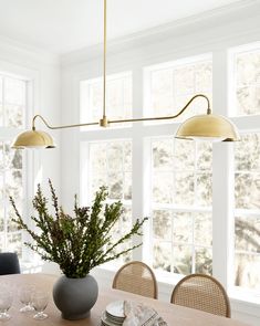
[[[92,207],[79,207],[75,196],[74,217],[71,217],[59,207],[51,180],[49,185],[54,214],[49,212],[48,199],[43,196],[40,185],[32,200],[38,215],[32,215],[31,220],[39,232],[23,221],[13,198],[10,197],[15,212],[12,221],[31,235],[33,241],[24,244],[43,260],[58,263],[67,277],[84,277],[93,267],[115,260],[142,244],[118,250],[119,245],[133,235],[142,235],[142,225],[147,218],[137,219],[128,232],[113,241],[111,231],[123,213],[123,206],[121,201],[105,203],[108,196],[105,187],[101,187],[96,192]]]

